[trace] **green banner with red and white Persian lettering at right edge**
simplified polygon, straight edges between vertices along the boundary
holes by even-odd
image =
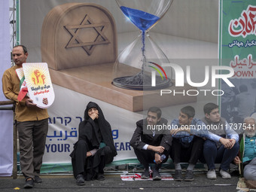
[[[222,81],[221,116],[242,131],[245,117],[255,111],[256,96],[256,2],[220,1],[219,58],[221,66],[234,69],[227,87]],[[239,132],[240,132],[239,131]]]

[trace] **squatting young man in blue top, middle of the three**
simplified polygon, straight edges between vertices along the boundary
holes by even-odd
[[[175,181],[183,180],[181,163],[189,163],[184,181],[194,181],[194,166],[203,153],[204,139],[199,137],[201,132],[197,132],[197,130],[201,130],[203,134],[203,128],[206,125],[202,120],[194,118],[194,115],[194,108],[192,106],[185,106],[181,108],[178,119],[172,120],[171,123],[172,130],[170,133],[173,139],[170,156],[175,166],[175,174],[173,175]],[[206,133],[208,133],[207,130]]]

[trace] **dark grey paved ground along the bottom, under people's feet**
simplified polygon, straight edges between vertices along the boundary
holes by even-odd
[[[23,189],[24,178],[0,178],[0,191],[237,191],[238,176],[224,180],[219,175],[215,180],[206,178],[205,173],[196,173],[195,181],[122,181],[120,175],[105,175],[105,181],[87,181],[78,186],[72,175],[42,175],[43,183],[35,184],[32,189]]]

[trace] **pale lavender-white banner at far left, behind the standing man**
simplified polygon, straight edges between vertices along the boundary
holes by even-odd
[[[0,3],[0,77],[11,66],[9,1]],[[7,100],[0,81],[0,101]],[[13,111],[0,110],[0,176],[10,176],[13,171]]]

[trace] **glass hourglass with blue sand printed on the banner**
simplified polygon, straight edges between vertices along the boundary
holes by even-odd
[[[155,90],[172,85],[172,69],[166,55],[149,36],[148,31],[168,11],[172,0],[116,0],[123,14],[140,30],[114,63],[112,84],[131,90]]]

